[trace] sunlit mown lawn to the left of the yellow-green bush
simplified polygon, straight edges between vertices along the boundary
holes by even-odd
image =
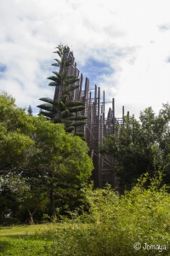
[[[77,228],[86,230],[88,225],[65,223],[1,226],[0,256],[64,255],[62,250],[65,245],[65,255],[70,255],[67,253],[72,244],[73,233]]]

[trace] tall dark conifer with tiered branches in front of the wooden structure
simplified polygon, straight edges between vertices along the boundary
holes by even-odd
[[[77,127],[84,125],[84,120],[87,117],[81,115],[81,111],[85,108],[83,102],[72,101],[71,95],[79,85],[79,79],[75,75],[68,75],[66,67],[73,65],[73,60],[65,60],[65,55],[69,52],[66,46],[59,45],[54,53],[59,55],[59,59],[54,59],[56,63],[52,64],[54,67],[59,67],[59,72],[53,72],[54,76],[48,79],[52,80],[48,85],[58,87],[59,99],[41,98],[43,103],[38,108],[41,108],[41,113],[54,123],[63,123],[65,131],[74,131],[75,135],[83,137],[83,134],[77,132]]]

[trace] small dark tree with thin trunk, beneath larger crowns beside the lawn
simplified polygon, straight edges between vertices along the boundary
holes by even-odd
[[[30,177],[24,178],[21,173],[10,172],[8,176],[0,177],[0,220],[6,215],[16,218],[24,207],[28,212],[29,224],[34,224],[34,214],[38,210],[45,210],[47,203],[48,195],[40,182],[33,183]]]

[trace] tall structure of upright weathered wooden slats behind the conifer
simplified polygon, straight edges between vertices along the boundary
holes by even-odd
[[[68,48],[69,49],[69,48]],[[73,52],[70,51],[65,55],[66,60],[73,60],[72,65],[65,67],[68,74],[76,75],[80,77],[79,87],[74,90],[71,96],[72,101],[84,102],[85,110],[82,111],[82,115],[88,117],[86,125],[77,127],[77,131],[82,131],[86,142],[89,147],[89,154],[94,162],[94,171],[92,179],[94,180],[94,186],[103,188],[105,183],[110,183],[113,188],[116,187],[116,177],[113,173],[115,160],[111,156],[105,156],[99,153],[99,143],[103,143],[104,137],[116,133],[116,125],[123,125],[122,118],[115,117],[115,100],[112,102],[105,102],[105,90],[102,93],[100,88],[95,84],[94,89],[89,89],[89,79],[85,79],[85,84],[82,86],[83,76],[77,69],[77,63]],[[78,83],[78,82],[77,82]],[[93,93],[94,92],[94,93]],[[56,87],[54,92],[54,99],[59,99],[60,88]],[[102,99],[102,100],[101,100]],[[105,116],[105,104],[110,103],[111,108]],[[124,107],[122,108],[124,112]]]

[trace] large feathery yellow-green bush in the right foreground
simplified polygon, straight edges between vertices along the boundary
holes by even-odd
[[[170,195],[165,186],[158,189],[161,172],[150,179],[149,189],[144,189],[148,178],[145,175],[121,197],[109,186],[87,189],[91,214],[84,213],[77,222],[83,218],[91,224],[57,230],[52,251],[63,256],[159,255],[161,251],[170,255]]]

